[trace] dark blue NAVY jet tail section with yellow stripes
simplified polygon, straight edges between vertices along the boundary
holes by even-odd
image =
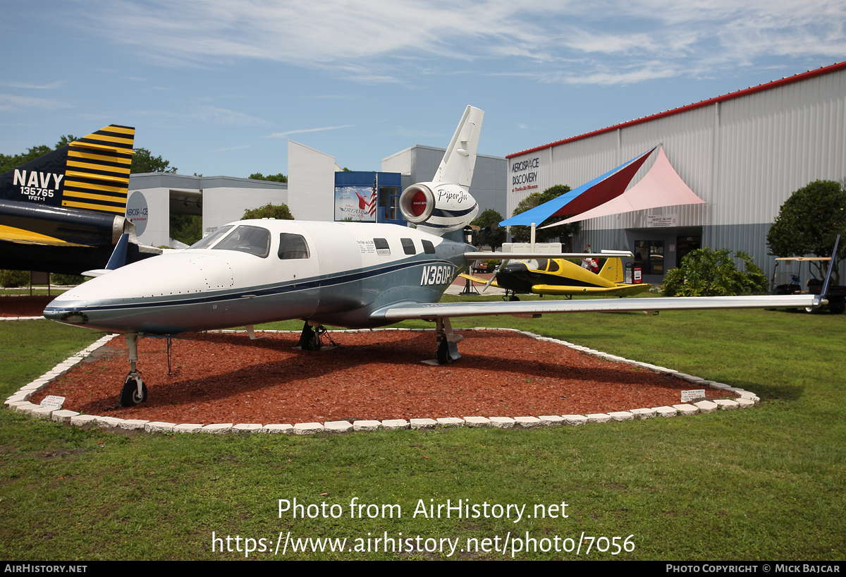
[[[0,268],[102,268],[124,233],[129,262],[161,254],[124,216],[134,140],[135,129],[112,124],[0,174]]]

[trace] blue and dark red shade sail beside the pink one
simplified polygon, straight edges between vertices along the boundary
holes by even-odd
[[[523,225],[531,223],[540,224],[549,217],[564,217],[569,214],[580,214],[590,211],[596,206],[605,204],[607,201],[622,195],[634,177],[634,173],[640,169],[647,157],[655,149],[645,151],[629,162],[624,162],[617,168],[603,174],[589,183],[582,184],[579,188],[570,190],[568,193],[558,196],[552,201],[545,202],[526,212],[521,212],[514,217],[503,220],[499,223],[502,227]],[[557,223],[561,224],[561,223]],[[546,227],[544,227],[546,228]]]

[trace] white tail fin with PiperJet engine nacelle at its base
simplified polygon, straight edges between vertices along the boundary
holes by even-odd
[[[479,212],[470,195],[481,121],[485,113],[467,107],[431,182],[409,186],[399,197],[405,220],[427,233],[443,236],[463,229]]]

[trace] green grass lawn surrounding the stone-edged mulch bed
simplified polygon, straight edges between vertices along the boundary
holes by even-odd
[[[538,551],[514,558],[843,559],[846,315],[665,311],[453,326],[537,332],[728,382],[763,400],[754,409],[605,425],[313,437],[121,437],[0,410],[0,558],[244,558],[245,538],[269,549],[250,558],[447,558],[446,539],[459,540],[450,558],[511,558],[514,537],[525,549],[528,532]],[[0,324],[0,394],[99,336],[48,321]],[[278,500],[294,497],[306,507],[327,503],[329,516],[280,518]],[[351,518],[354,499],[380,514],[371,519],[365,507],[363,518]],[[450,519],[443,509],[440,519],[420,514],[421,505],[428,512],[447,499],[480,511],[487,503],[489,513],[498,511],[492,505],[525,509],[516,523],[514,508],[501,519],[457,519],[454,509]],[[566,519],[535,517],[536,505],[556,503],[568,503]],[[383,517],[382,505],[393,504],[402,516]],[[332,505],[340,517],[332,518]],[[212,531],[224,539],[217,552]],[[284,556],[283,547],[274,555],[288,531],[291,539],[346,538],[345,548],[364,551],[292,552],[289,542]],[[382,541],[374,551],[386,532],[415,547],[418,536],[422,547],[438,540],[428,545],[443,542],[446,552],[408,552],[406,541],[398,543],[403,552],[383,552]],[[582,534],[597,539],[578,557],[555,551],[575,547]],[[219,552],[226,536],[241,552]],[[629,537],[634,550],[613,556],[613,537],[621,546]],[[506,538],[504,556],[492,550]]]

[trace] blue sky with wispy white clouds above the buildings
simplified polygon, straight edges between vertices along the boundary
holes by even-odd
[[[472,104],[505,156],[846,59],[846,3],[5,0],[0,152],[134,126],[179,173],[376,170]]]

